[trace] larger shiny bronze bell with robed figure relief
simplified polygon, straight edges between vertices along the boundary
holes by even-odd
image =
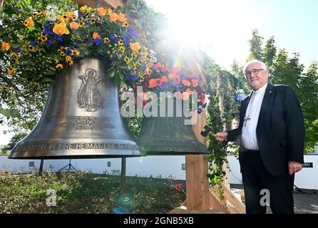
[[[78,58],[51,84],[39,123],[9,158],[140,156],[120,115],[118,86],[103,58]]]

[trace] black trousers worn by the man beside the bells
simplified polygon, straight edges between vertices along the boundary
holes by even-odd
[[[267,206],[273,214],[294,214],[294,175],[271,175],[258,150],[244,152],[241,165],[247,214],[266,214]]]

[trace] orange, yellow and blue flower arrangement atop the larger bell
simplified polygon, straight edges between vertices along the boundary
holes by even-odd
[[[58,14],[55,6],[26,16],[24,25],[11,41],[2,41],[8,59],[6,72],[29,81],[51,81],[56,71],[72,66],[74,58],[101,56],[111,63],[108,76],[116,81],[143,81],[150,54],[125,14],[111,8]],[[34,66],[41,58],[41,65]],[[44,59],[43,59],[44,58]]]

